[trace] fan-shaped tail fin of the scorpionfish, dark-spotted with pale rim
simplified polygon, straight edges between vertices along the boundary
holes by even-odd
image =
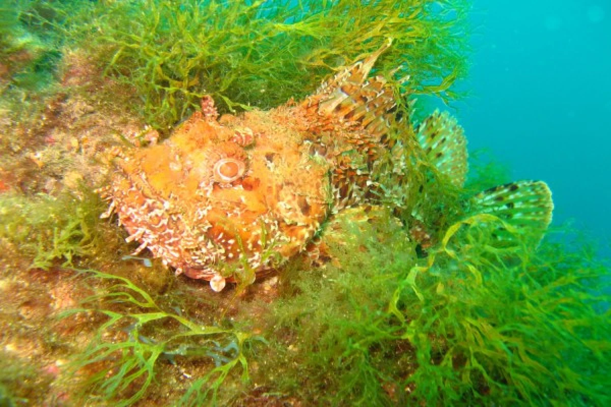
[[[542,181],[510,182],[480,192],[470,200],[471,215],[494,215],[537,242],[552,221],[553,209],[552,193]],[[495,237],[505,241],[515,239],[504,228],[499,228]]]

